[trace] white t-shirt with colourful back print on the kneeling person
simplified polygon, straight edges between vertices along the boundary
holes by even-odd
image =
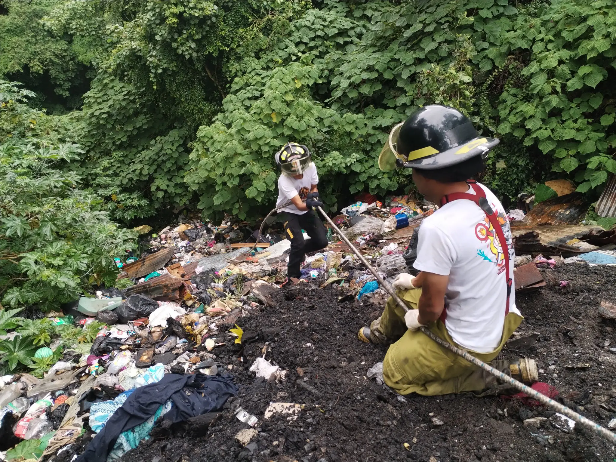
[[[514,249],[503,205],[484,185],[479,185],[503,228],[509,247],[509,272],[513,279]],[[472,188],[469,193],[474,194]],[[507,297],[505,255],[484,211],[469,200],[445,204],[424,219],[419,228],[419,271],[449,275],[445,293],[445,326],[452,339],[477,353],[492,352],[500,344]],[[512,287],[509,312],[520,314]]]

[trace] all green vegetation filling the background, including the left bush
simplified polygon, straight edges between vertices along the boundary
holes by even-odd
[[[115,222],[263,216],[286,140],[332,211],[408,189],[376,158],[429,103],[501,139],[483,181],[505,202],[553,178],[594,199],[616,171],[614,3],[3,0],[2,304],[112,282],[135,245]]]

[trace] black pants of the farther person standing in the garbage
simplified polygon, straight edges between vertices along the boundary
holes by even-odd
[[[299,278],[302,275],[299,267],[306,254],[327,246],[327,230],[317,213],[312,210],[301,215],[284,212],[283,219],[285,220],[286,238],[291,241],[286,275]],[[306,230],[310,239],[304,240],[302,229]]]

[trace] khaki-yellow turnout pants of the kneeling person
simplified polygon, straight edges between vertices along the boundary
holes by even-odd
[[[399,290],[398,295],[409,307],[417,309],[421,289]],[[490,353],[472,351],[469,353],[484,362],[492,361],[498,356],[522,319],[521,316],[510,312],[505,317],[500,345]],[[421,331],[408,330],[404,322],[404,311],[391,297],[387,301],[383,315],[373,322],[371,328],[394,342],[383,360],[383,378],[385,383],[399,394],[415,392],[432,396],[474,392],[477,395],[487,395],[494,394],[498,389],[493,377],[481,368],[440,346]],[[428,328],[440,338],[464,349],[453,341],[440,320]],[[503,363],[494,362],[492,365],[503,369],[507,367]]]

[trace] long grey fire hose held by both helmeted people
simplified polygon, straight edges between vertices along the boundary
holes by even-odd
[[[334,222],[331,221],[330,217],[328,217],[325,214],[323,209],[319,207],[318,211],[320,211],[323,217],[325,217],[326,221],[330,224],[332,229],[334,229],[336,233],[338,233],[338,235],[342,238],[342,241],[344,241],[344,243],[346,243],[346,245],[349,246],[349,248],[353,251],[353,253],[359,257],[362,263],[366,265],[366,267],[374,275],[378,283],[387,291],[387,293],[389,293],[389,295],[392,296],[392,298],[398,304],[398,306],[401,307],[403,310],[405,310],[405,312],[407,312],[409,310],[407,304],[395,293],[394,288],[386,280],[384,280],[381,277],[381,275],[378,274],[378,272],[370,265],[370,263],[368,263],[368,261],[363,257],[363,255],[354,247],[354,245],[352,245],[351,241],[347,239],[344,233],[342,233],[342,231],[338,229],[338,227],[334,224]],[[533,399],[536,399],[541,404],[546,405],[547,407],[553,408],[559,413],[569,417],[573,421],[591,429],[593,432],[595,432],[599,436],[604,437],[606,440],[616,444],[616,434],[610,432],[607,428],[602,427],[598,423],[595,423],[591,421],[590,419],[587,419],[585,416],[580,415],[577,412],[571,410],[570,408],[563,406],[561,403],[556,402],[553,399],[548,398],[546,395],[543,395],[540,392],[533,390],[531,387],[526,386],[523,383],[517,381],[516,379],[511,378],[505,373],[502,373],[500,370],[495,369],[489,364],[484,363],[483,361],[477,359],[473,355],[469,354],[469,352],[464,351],[463,349],[460,349],[456,346],[453,346],[449,342],[434,335],[431,331],[429,331],[425,327],[421,327],[421,331],[424,334],[426,334],[429,338],[437,342],[439,345],[442,345],[448,350],[453,351],[455,354],[460,355],[461,357],[466,359],[468,362],[471,362],[474,365],[479,366],[480,368],[489,372],[493,376],[498,377],[503,382],[511,384],[512,386],[516,387],[519,391],[523,392],[524,394],[529,395]]]

